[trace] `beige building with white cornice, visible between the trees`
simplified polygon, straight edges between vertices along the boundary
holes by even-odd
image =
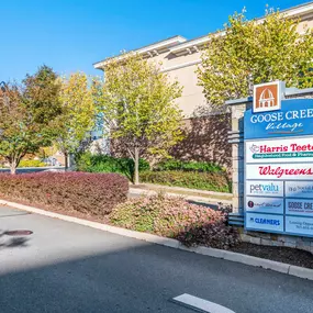
[[[303,32],[304,25],[313,27],[313,2],[301,4],[282,11],[288,18],[300,18],[299,32]],[[261,22],[262,19],[259,19]],[[223,34],[220,32],[219,34]],[[176,79],[183,87],[182,96],[178,99],[180,109],[190,125],[190,133],[183,145],[180,145],[174,155],[186,159],[213,160],[230,166],[231,146],[226,142],[226,133],[230,130],[227,119],[211,118],[206,121],[190,120],[197,109],[208,108],[202,88],[198,86],[195,70],[201,63],[201,49],[210,42],[209,35],[187,40],[180,35],[174,36],[134,52],[143,55],[152,62],[161,63],[161,70],[171,79]],[[121,46],[122,48],[122,46]],[[116,56],[119,57],[119,56]],[[104,69],[110,60],[96,63],[98,69]],[[212,121],[214,119],[214,122]],[[221,139],[225,138],[225,139]],[[213,153],[214,152],[214,153]],[[230,153],[228,153],[230,152]]]

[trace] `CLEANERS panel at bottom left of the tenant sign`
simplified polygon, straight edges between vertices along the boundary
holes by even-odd
[[[283,215],[246,213],[246,228],[283,232]]]

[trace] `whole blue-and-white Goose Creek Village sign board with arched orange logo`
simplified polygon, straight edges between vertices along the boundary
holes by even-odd
[[[313,99],[255,86],[245,112],[245,227],[313,236]]]

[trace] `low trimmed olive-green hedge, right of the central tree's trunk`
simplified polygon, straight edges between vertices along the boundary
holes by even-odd
[[[166,186],[231,192],[231,182],[226,172],[143,171],[141,180]]]

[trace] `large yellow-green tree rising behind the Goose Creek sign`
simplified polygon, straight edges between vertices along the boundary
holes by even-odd
[[[299,33],[300,21],[266,10],[262,21],[230,16],[223,32],[211,35],[198,69],[210,104],[251,96],[251,87],[275,80],[288,87],[313,86],[313,34]]]

